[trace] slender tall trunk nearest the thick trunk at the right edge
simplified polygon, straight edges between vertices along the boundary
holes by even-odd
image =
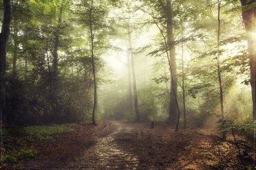
[[[218,29],[217,29],[217,50],[220,51],[220,0],[217,0],[218,3],[218,12],[217,12],[217,21],[218,21]],[[217,54],[217,75],[219,78],[219,86],[220,86],[220,108],[222,112],[222,127],[224,127],[224,104],[223,104],[223,90],[222,90],[222,76],[220,73],[220,54]],[[222,138],[226,139],[226,132],[222,132]]]

